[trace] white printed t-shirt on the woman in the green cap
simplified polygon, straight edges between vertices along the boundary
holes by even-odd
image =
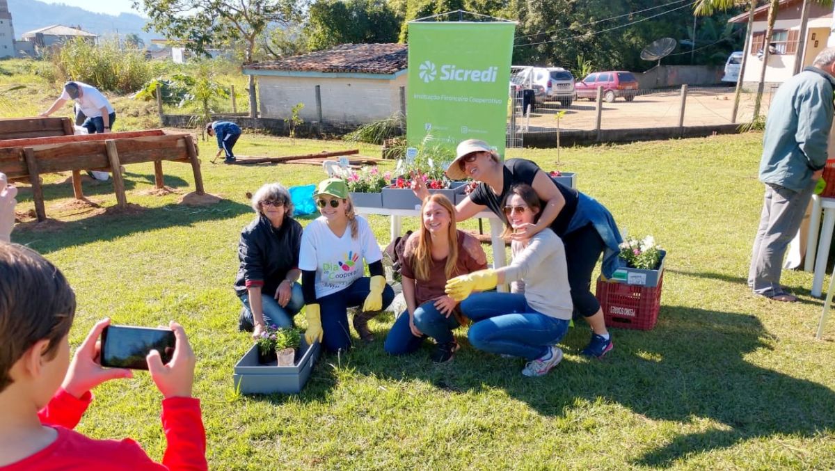
[[[337,237],[319,216],[301,235],[299,269],[316,270],[316,298],[342,291],[365,274],[365,264],[382,260],[382,252],[368,221],[355,216],[359,225],[357,239],[351,237],[349,224]]]

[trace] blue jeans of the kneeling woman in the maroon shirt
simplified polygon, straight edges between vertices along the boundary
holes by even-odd
[[[409,312],[403,311],[392,330],[388,332],[383,348],[392,355],[402,355],[417,350],[423,339],[433,337],[438,343],[452,342],[453,329],[458,327],[455,316],[444,316],[435,308],[435,301],[427,301],[415,309],[415,327],[423,332],[421,337],[415,337],[409,328]]]

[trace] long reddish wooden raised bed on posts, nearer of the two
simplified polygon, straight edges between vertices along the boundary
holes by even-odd
[[[46,220],[40,175],[73,172],[73,194],[80,200],[82,170],[113,174],[113,187],[120,207],[127,205],[122,165],[154,162],[154,184],[163,187],[162,161],[190,163],[195,192],[204,195],[197,146],[191,134],[162,129],[108,134],[78,134],[57,137],[0,140],[0,172],[9,180],[28,180],[32,185],[38,221]]]

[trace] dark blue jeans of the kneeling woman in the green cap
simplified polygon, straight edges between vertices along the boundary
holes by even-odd
[[[322,346],[330,352],[347,350],[351,347],[351,333],[348,330],[348,307],[362,306],[371,292],[371,278],[363,276],[342,291],[323,296],[319,303],[321,316]],[[385,309],[394,301],[392,286],[382,290],[382,307]]]

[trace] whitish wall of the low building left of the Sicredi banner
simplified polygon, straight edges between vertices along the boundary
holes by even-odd
[[[291,108],[305,104],[299,116],[307,122],[318,120],[316,85],[320,86],[321,113],[325,121],[364,124],[387,118],[400,109],[400,87],[407,74],[396,79],[318,78],[258,76],[261,116],[290,117]]]

